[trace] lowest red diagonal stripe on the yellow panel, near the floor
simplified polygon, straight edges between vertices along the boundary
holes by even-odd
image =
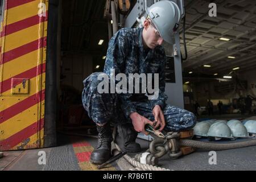
[[[32,135],[36,134],[38,130],[38,126],[40,123],[40,127],[44,126],[44,118],[40,119],[38,122],[33,123],[32,125],[26,127],[25,129],[19,131],[18,133],[12,135],[11,137],[0,141],[0,151],[2,150],[10,150],[15,147],[20,142],[30,138]],[[38,147],[38,146],[36,146]]]

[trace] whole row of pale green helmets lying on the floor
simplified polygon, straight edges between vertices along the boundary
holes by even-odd
[[[255,137],[256,121],[237,119],[230,121],[209,119],[197,122],[193,127],[196,138],[209,137],[214,140]]]

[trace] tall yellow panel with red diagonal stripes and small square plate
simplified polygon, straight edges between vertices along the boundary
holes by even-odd
[[[39,16],[45,5],[46,16]],[[0,151],[43,147],[48,0],[6,0],[1,27]],[[25,89],[15,93],[13,89]]]

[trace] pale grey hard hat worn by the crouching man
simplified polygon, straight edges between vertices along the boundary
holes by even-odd
[[[158,1],[146,9],[147,15],[155,24],[160,36],[174,44],[174,34],[179,28],[181,13],[179,6],[172,1]]]

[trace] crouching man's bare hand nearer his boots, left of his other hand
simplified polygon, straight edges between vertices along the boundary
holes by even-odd
[[[145,130],[145,125],[150,124],[151,126],[153,126],[152,121],[150,121],[149,119],[143,117],[138,113],[131,113],[130,118],[133,121],[133,127],[135,131],[142,132],[145,135],[148,135],[148,132]]]

